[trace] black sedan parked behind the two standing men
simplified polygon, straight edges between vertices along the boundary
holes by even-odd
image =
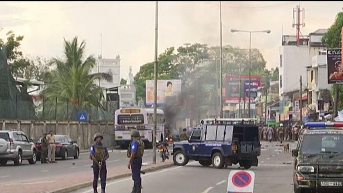
[[[37,152],[37,159],[40,159],[42,148],[41,148],[41,140],[40,138],[36,143]],[[74,159],[78,159],[80,155],[80,149],[76,141],[71,140],[71,138],[67,135],[55,135],[56,141],[56,156],[60,157],[63,160],[66,160],[68,157],[74,157]],[[46,155],[47,156],[47,155]]]

